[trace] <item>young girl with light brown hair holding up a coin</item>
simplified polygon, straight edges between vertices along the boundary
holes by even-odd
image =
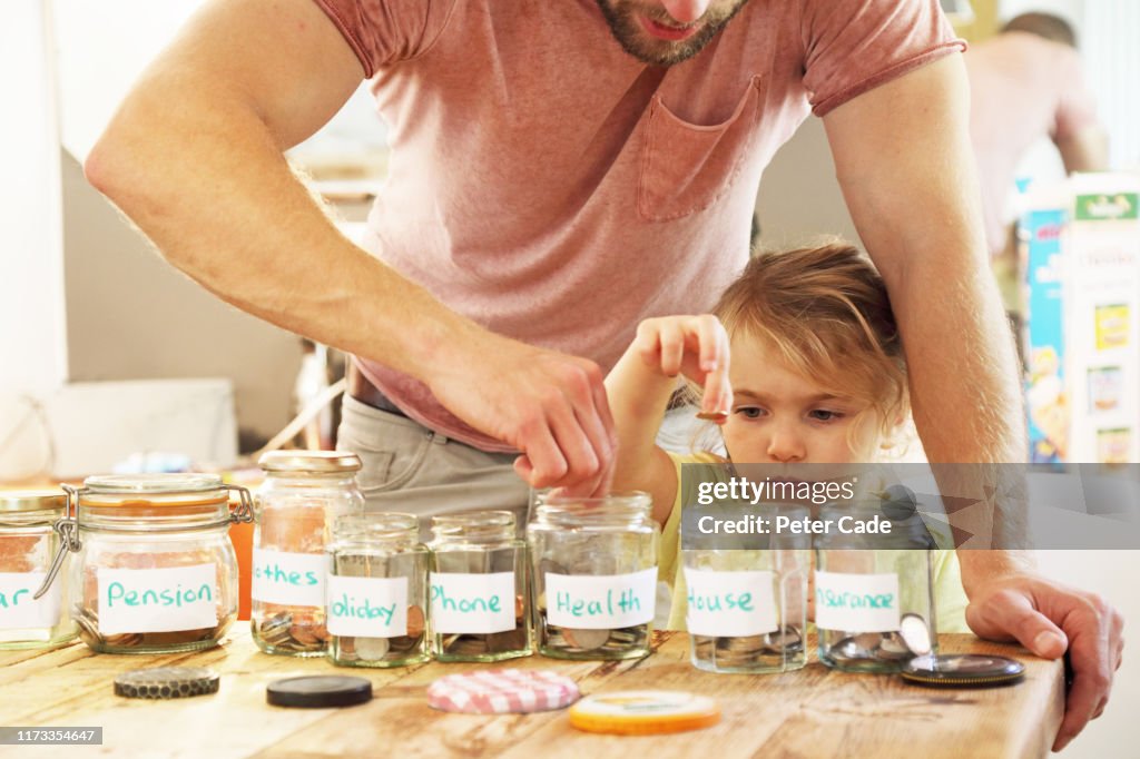
[[[715,316],[646,319],[605,379],[618,432],[614,490],[644,490],[662,528],[669,629],[684,629],[681,465],[872,463],[909,416],[906,365],[887,291],[858,251],[832,243],[754,259]],[[731,356],[731,361],[730,361]],[[727,459],[654,443],[677,375],[703,389]],[[938,629],[967,631],[952,550],[937,552]]]

